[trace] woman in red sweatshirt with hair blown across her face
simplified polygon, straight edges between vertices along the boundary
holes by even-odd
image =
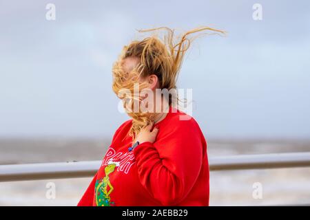
[[[156,30],[167,31],[163,40],[133,41],[114,64],[113,90],[132,120],[116,130],[78,206],[209,205],[207,143],[194,118],[178,110],[174,89],[189,35],[223,32],[197,28],[175,39],[174,30]]]

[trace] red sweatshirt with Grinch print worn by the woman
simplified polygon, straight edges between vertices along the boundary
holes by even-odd
[[[131,126],[117,129],[78,206],[209,206],[207,142],[194,118],[170,108],[156,142],[128,151]]]

